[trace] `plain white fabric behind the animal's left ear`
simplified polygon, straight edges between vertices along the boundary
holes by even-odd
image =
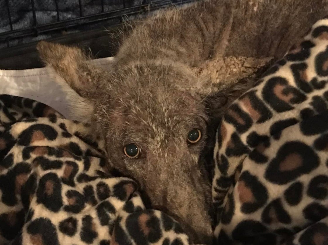
[[[95,65],[109,67],[113,57],[90,61]],[[34,99],[51,106],[66,118],[70,117],[66,95],[51,78],[47,68],[27,70],[0,70],[0,94]]]

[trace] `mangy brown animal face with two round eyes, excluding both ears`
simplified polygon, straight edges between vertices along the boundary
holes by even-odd
[[[199,96],[168,82],[182,78],[193,79],[162,64],[129,67],[110,79],[119,91],[96,103],[95,118],[112,166],[136,179],[154,208],[210,235],[210,183],[198,165],[208,118]]]

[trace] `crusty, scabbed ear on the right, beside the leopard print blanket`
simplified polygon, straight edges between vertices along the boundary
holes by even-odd
[[[208,112],[219,117],[232,102],[255,85],[273,62],[273,57],[225,57],[209,61],[195,70],[200,82],[194,90],[205,101]]]

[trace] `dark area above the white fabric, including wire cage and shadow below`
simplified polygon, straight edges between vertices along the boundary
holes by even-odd
[[[0,69],[43,67],[39,40],[77,45],[94,58],[114,56],[124,25],[195,0],[0,0]]]

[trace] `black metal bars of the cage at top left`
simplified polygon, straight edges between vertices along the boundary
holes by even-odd
[[[37,37],[40,34],[46,34],[46,33],[49,34],[54,31],[68,30],[70,28],[99,23],[107,20],[116,20],[116,24],[119,24],[123,21],[124,16],[129,17],[132,15],[139,15],[147,11],[157,10],[166,6],[170,6],[172,4],[180,5],[180,4],[194,2],[196,0],[143,0],[141,4],[133,7],[127,6],[126,3],[128,3],[129,0],[120,0],[121,3],[123,4],[123,8],[113,11],[108,11],[108,12],[104,11],[104,0],[101,0],[100,13],[92,14],[88,16],[83,15],[82,3],[81,0],[78,0],[80,16],[77,18],[65,19],[65,20],[60,19],[58,0],[54,0],[55,9],[57,12],[57,22],[50,23],[50,24],[43,24],[43,25],[38,25],[36,14],[35,14],[36,10],[34,7],[34,0],[30,0],[31,11],[33,16],[33,25],[28,28],[22,28],[22,29],[13,28],[10,5],[9,5],[10,0],[5,0],[5,1],[6,1],[6,8],[9,17],[10,31],[0,33],[0,43],[6,42],[7,47],[10,47],[10,41],[14,39],[21,39],[24,37]]]

